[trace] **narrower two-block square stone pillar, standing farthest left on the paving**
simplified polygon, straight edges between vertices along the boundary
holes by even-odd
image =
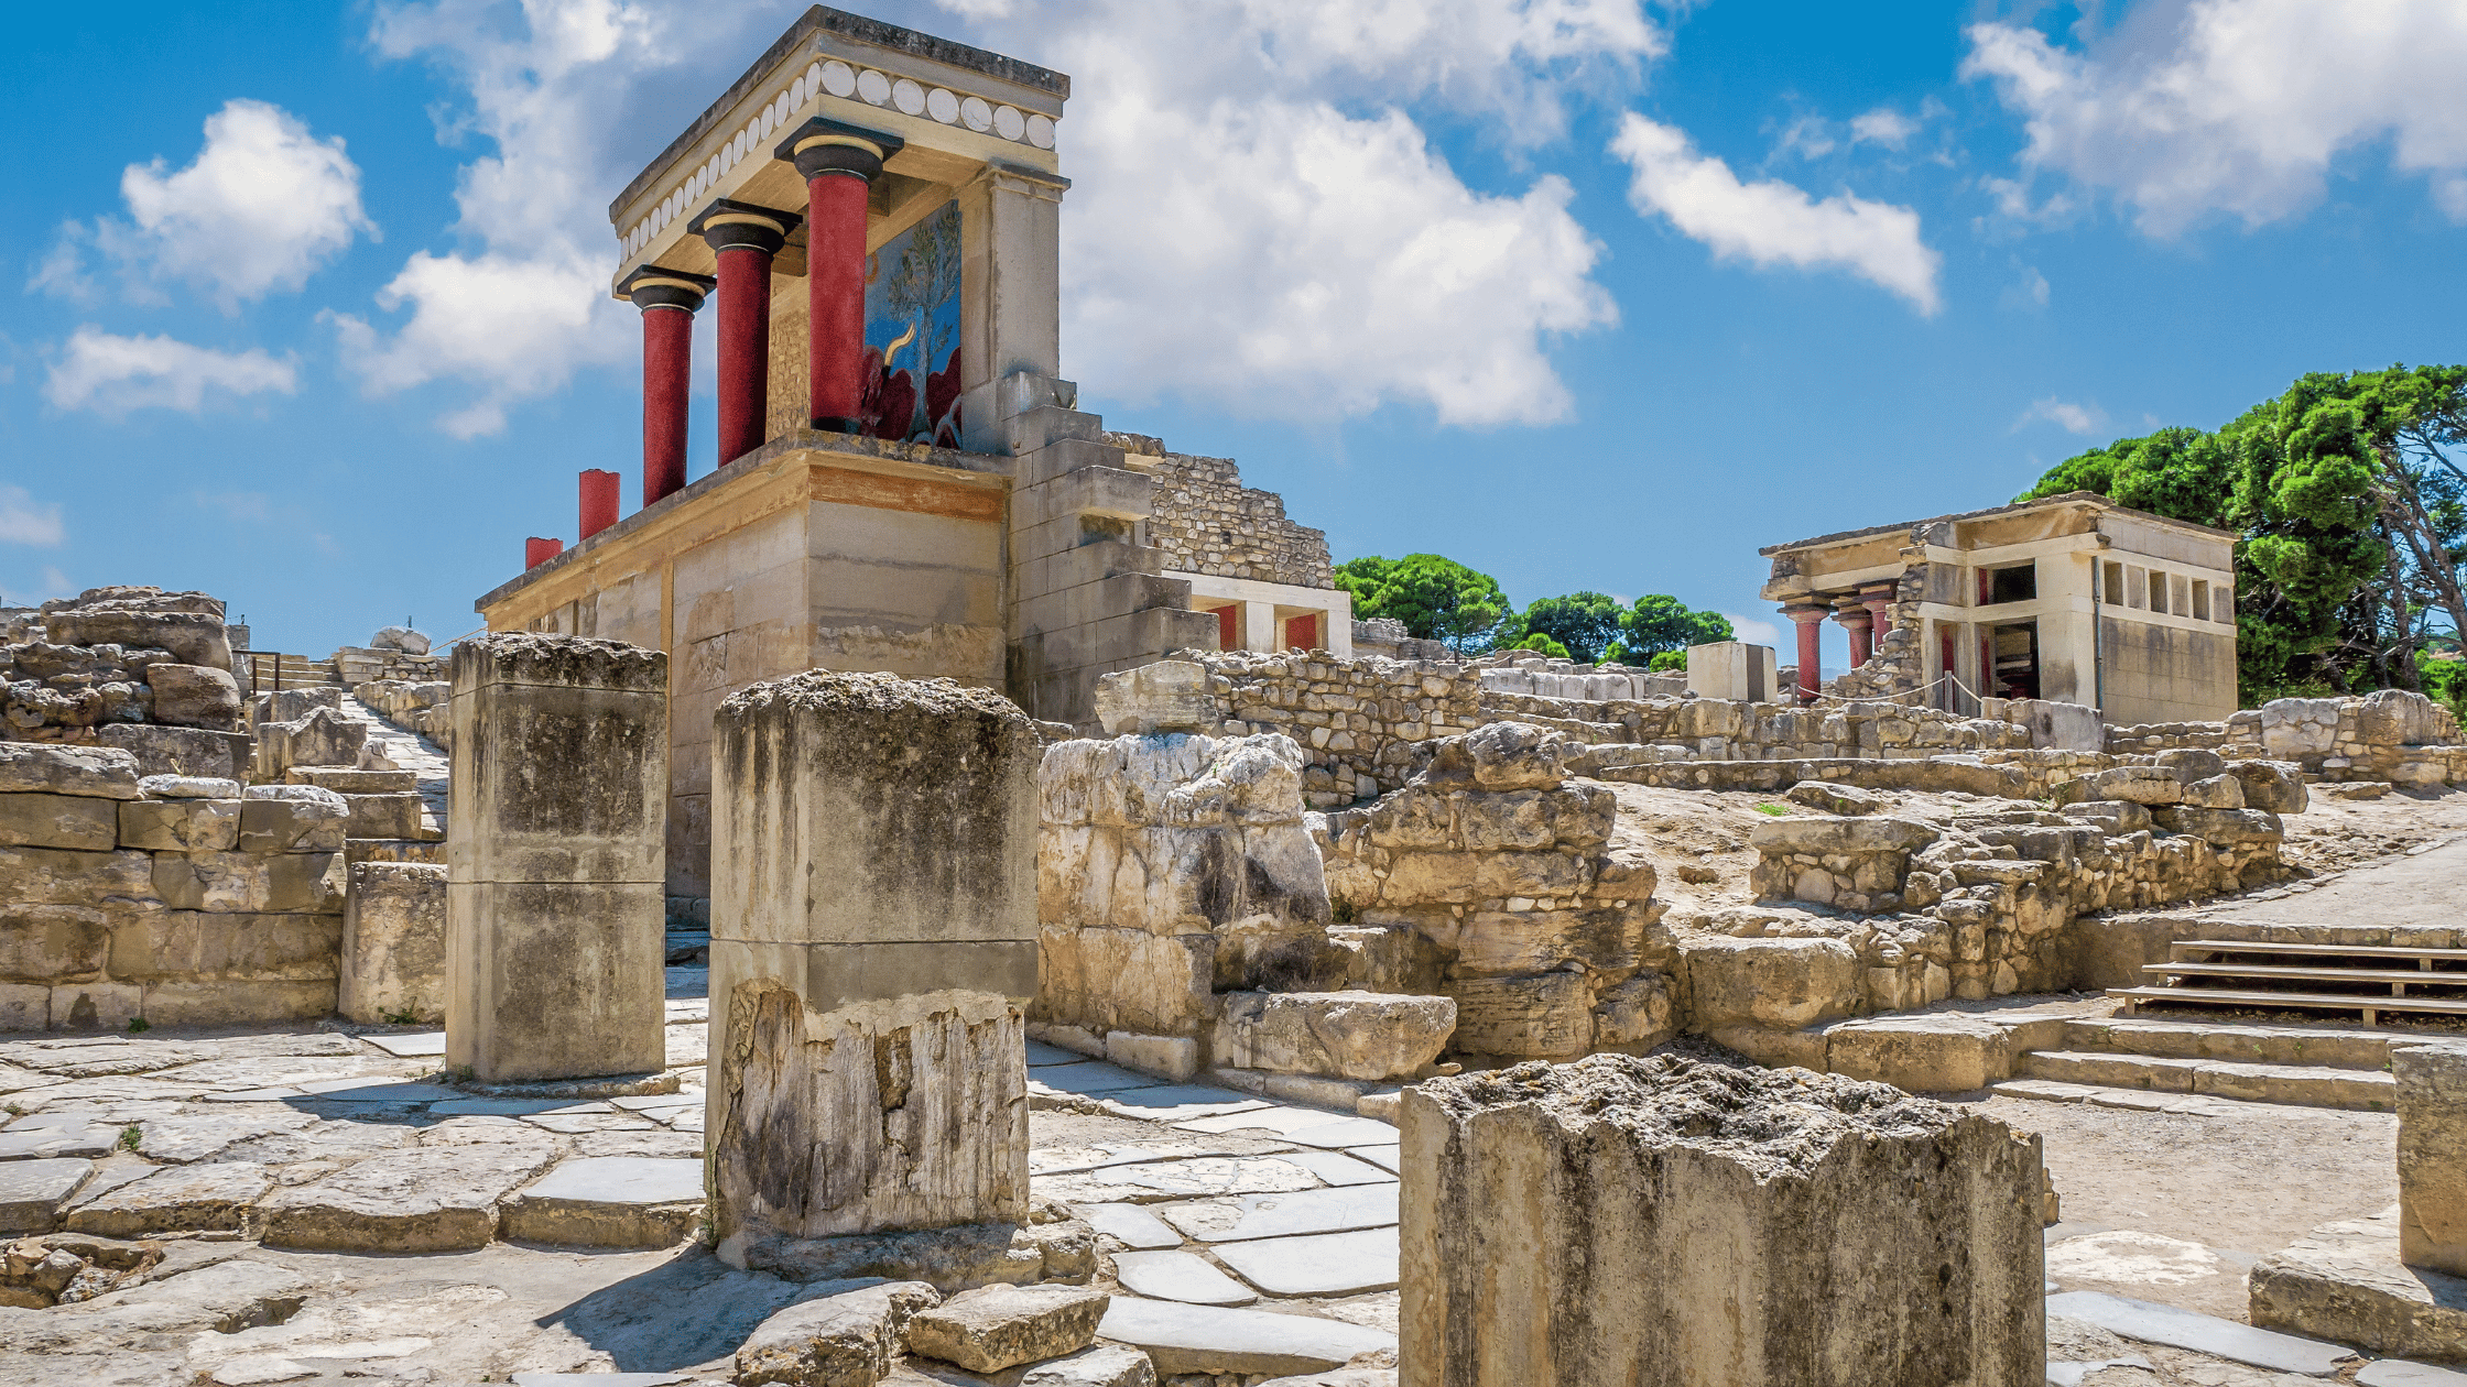
[[[666,1064],[669,656],[498,632],[454,647],[447,1064]]]

